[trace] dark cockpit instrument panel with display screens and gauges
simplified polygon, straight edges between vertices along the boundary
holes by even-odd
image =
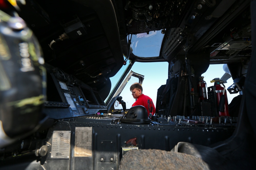
[[[47,101],[44,112],[53,119],[93,115],[106,105],[98,91],[59,68],[47,67]]]

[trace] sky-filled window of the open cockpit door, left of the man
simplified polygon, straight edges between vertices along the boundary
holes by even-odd
[[[132,107],[132,104],[135,102],[135,99],[132,97],[132,92],[130,91],[130,86],[135,82],[139,82],[138,77],[131,76],[131,79],[127,82],[123,91],[119,95],[119,96],[123,97],[122,100],[126,103],[127,109],[130,109]],[[118,101],[116,101],[114,108],[122,109],[122,106],[121,106],[121,104],[119,104]]]

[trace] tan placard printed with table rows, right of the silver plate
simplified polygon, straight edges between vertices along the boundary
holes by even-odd
[[[74,156],[92,156],[92,127],[76,127]]]

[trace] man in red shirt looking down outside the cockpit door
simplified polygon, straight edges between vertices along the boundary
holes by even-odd
[[[152,113],[152,116],[156,112],[155,105],[152,99],[142,93],[143,89],[140,83],[133,83],[130,87],[130,91],[132,92],[132,96],[134,99],[137,99],[132,106],[141,105],[147,109],[148,116]]]

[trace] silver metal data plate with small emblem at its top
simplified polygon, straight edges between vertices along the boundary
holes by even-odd
[[[55,130],[52,134],[52,158],[69,158],[70,155],[70,131]]]

